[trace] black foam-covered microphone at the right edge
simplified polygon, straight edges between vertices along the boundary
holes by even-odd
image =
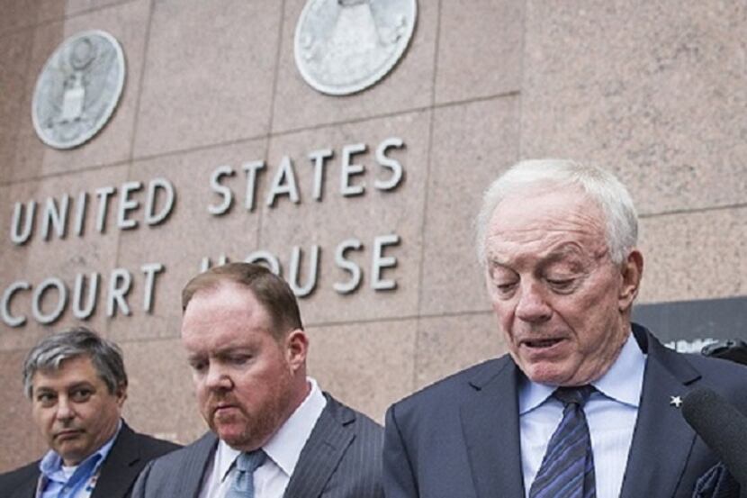
[[[747,417],[712,389],[693,389],[682,403],[682,415],[729,472],[747,488]]]

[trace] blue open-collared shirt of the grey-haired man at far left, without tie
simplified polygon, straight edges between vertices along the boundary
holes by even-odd
[[[114,439],[117,439],[120,430],[121,421],[112,438],[98,448],[93,455],[80,462],[71,474],[63,468],[62,457],[50,449],[39,463],[41,475],[37,496],[39,498],[87,498],[90,496],[94,492],[99,469],[109,455]]]

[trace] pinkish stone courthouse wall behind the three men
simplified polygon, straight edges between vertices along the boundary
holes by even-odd
[[[263,250],[290,278],[295,254],[294,282],[302,292],[314,282],[301,300],[311,375],[379,421],[389,403],[501,354],[472,219],[484,187],[519,158],[592,162],[629,186],[646,258],[640,303],[747,296],[743,2],[419,0],[403,58],[347,96],[320,94],[295,66],[304,4],[0,0],[0,291],[30,287],[7,310],[23,325],[0,322],[0,471],[44,448],[20,367],[36,340],[81,321],[76,278],[98,282],[82,322],[124,350],[127,420],[181,442],[204,430],[179,343],[179,292],[203,258]],[[36,78],[62,41],[90,29],[125,52],[120,104],[93,140],[51,149],[31,122]],[[377,187],[392,180],[382,156],[401,166],[392,188]],[[346,177],[350,165],[362,171]],[[224,190],[211,186],[217,171]],[[273,195],[289,171],[297,202]],[[148,188],[164,180],[174,204],[148,224]],[[165,205],[152,188],[151,213]],[[48,198],[69,195],[75,213],[81,193],[83,230],[71,214],[65,237],[45,240]],[[229,194],[225,213],[209,212]],[[15,244],[14,206],[31,202],[33,230]],[[135,226],[122,228],[122,216]],[[361,280],[342,294],[336,285],[356,270],[336,252],[348,246],[344,262]],[[42,324],[34,302],[42,316],[60,302],[49,278],[67,302]]]

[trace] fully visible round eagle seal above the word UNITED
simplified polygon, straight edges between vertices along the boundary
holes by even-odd
[[[79,32],[49,57],[31,102],[41,141],[72,149],[109,121],[124,86],[124,54],[118,41],[98,30]]]

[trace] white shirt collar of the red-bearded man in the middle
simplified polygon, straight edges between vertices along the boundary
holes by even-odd
[[[298,458],[301,456],[301,450],[327,405],[327,398],[321,393],[317,381],[311,377],[307,377],[306,380],[311,385],[309,394],[262,447],[267,457],[272,459],[289,477],[293,475]],[[222,481],[229,474],[241,451],[229,447],[221,440],[218,444],[218,453],[218,475]]]

